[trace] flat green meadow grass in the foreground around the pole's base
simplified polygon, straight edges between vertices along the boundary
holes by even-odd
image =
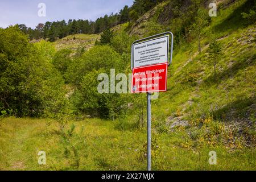
[[[76,128],[64,144],[56,122],[45,119],[3,120],[0,129],[1,170],[145,170],[146,131],[120,131],[115,122],[100,119],[69,122]],[[255,170],[255,150],[230,151],[224,146],[188,147],[184,130],[153,135],[154,170]],[[75,146],[75,156],[71,150]],[[69,152],[65,152],[68,148]],[[46,152],[46,166],[38,164],[38,152]],[[217,152],[217,165],[210,165],[209,152]],[[77,165],[79,161],[79,165]]]

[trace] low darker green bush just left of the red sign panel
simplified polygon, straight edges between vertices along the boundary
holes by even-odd
[[[121,94],[98,93],[98,75],[104,72],[93,70],[82,78],[79,89],[75,92],[72,100],[75,106],[83,113],[93,117],[115,119],[126,111],[126,96]]]

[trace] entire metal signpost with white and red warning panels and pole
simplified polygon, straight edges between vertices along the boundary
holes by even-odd
[[[173,43],[172,32],[164,32],[136,40],[131,47],[131,93],[147,93],[148,171],[151,171],[151,94],[167,91],[167,67],[172,63]]]

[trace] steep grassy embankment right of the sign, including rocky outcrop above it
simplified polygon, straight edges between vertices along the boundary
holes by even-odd
[[[180,11],[185,11],[188,2],[183,2]],[[245,26],[241,15],[250,3],[218,2],[217,17],[203,30],[201,53],[196,38],[189,44],[176,45],[168,73],[168,92],[160,93],[153,104],[155,129],[160,126],[163,130],[165,123],[164,130],[168,131],[185,127],[188,138],[196,142],[212,144],[221,139],[231,148],[255,147],[256,27],[255,24]],[[134,23],[130,34],[143,36],[161,28],[170,30],[174,27],[172,21],[177,19],[168,8],[163,3],[148,11]],[[222,49],[217,59],[216,78],[213,59],[209,56],[209,43],[213,38]]]

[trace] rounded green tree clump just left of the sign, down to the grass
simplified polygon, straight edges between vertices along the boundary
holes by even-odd
[[[110,69],[115,75],[125,69],[122,56],[110,46],[95,46],[74,60],[68,68],[69,78],[77,90],[72,96],[73,104],[82,112],[102,118],[115,119],[126,111],[126,99],[122,94],[98,93],[98,75],[105,73],[110,81]]]

